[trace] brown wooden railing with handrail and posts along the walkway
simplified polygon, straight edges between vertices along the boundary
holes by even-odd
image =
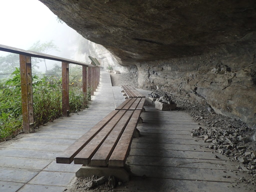
[[[69,115],[69,63],[82,66],[82,91],[84,97],[87,97],[87,90],[90,95],[100,83],[100,67],[97,62],[92,60],[91,64],[86,64],[70,59],[56,57],[48,54],[43,54],[35,51],[26,51],[14,47],[9,47],[0,44],[0,51],[19,54],[20,60],[20,80],[21,80],[21,98],[22,98],[22,116],[23,116],[23,131],[30,133],[34,131],[34,110],[33,110],[33,91],[32,91],[32,68],[31,57],[42,59],[50,59],[62,62],[62,115]],[[90,58],[91,59],[91,58]]]

